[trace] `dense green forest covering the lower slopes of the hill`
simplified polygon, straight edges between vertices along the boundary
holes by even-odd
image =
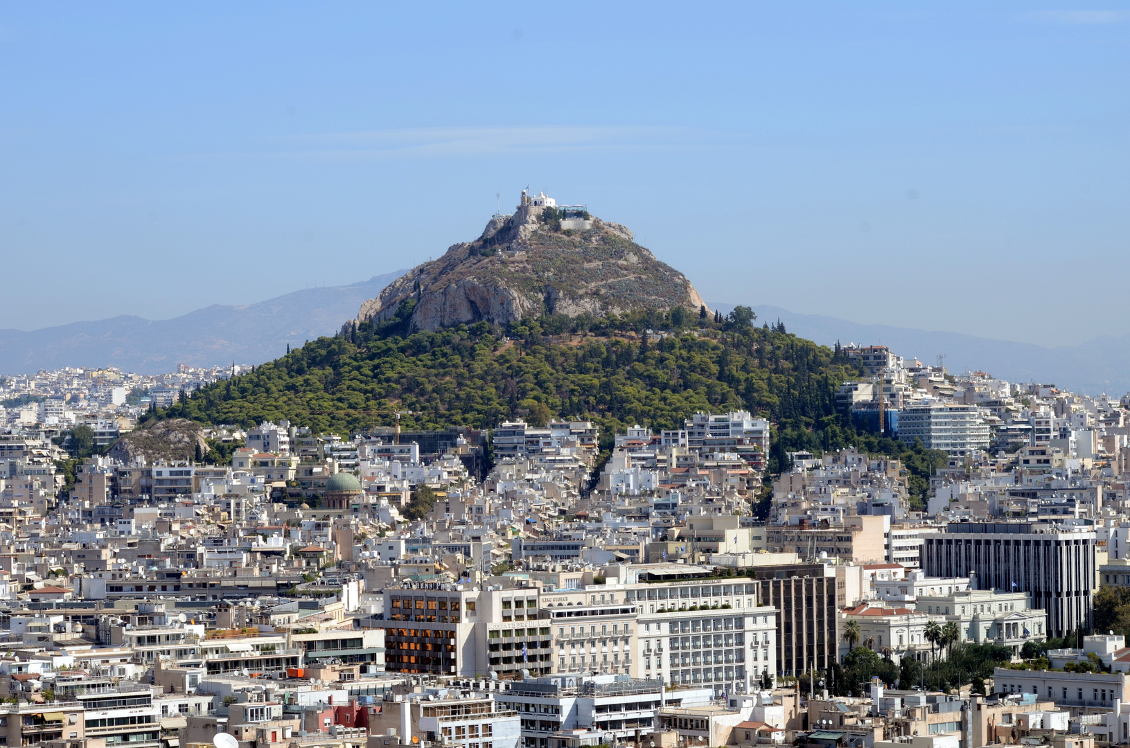
[[[633,424],[672,428],[697,410],[747,409],[774,424],[774,472],[786,467],[786,452],[855,445],[902,455],[921,496],[944,459],[858,433],[835,408],[840,384],[860,375],[838,346],[817,346],[780,323],[757,327],[748,307],[724,319],[680,307],[408,334],[411,310],[409,301],[390,320],[347,325],[150,417],[243,426],[288,419],[340,434],[390,426],[397,410],[418,414],[403,418],[405,428],[585,418],[600,425],[608,449]]]

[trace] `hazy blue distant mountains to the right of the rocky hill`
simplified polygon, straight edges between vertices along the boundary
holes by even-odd
[[[711,304],[723,314],[732,304]],[[779,306],[754,306],[758,323],[781,320],[785,330],[801,338],[832,346],[855,342],[884,345],[905,358],[945,365],[953,373],[983,371],[1010,382],[1043,382],[1074,392],[1122,395],[1130,391],[1130,336],[1103,336],[1079,343],[1046,348],[1026,342],[992,340],[957,332],[860,324],[819,314],[798,314]]]

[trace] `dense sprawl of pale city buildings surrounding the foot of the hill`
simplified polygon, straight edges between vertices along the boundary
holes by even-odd
[[[5,377],[0,730],[1113,742],[1125,403],[840,354],[859,372],[841,416],[931,455],[921,494],[854,447],[770,473],[775,430],[749,411],[612,435],[195,425],[154,445],[132,438],[147,416],[241,367]]]

